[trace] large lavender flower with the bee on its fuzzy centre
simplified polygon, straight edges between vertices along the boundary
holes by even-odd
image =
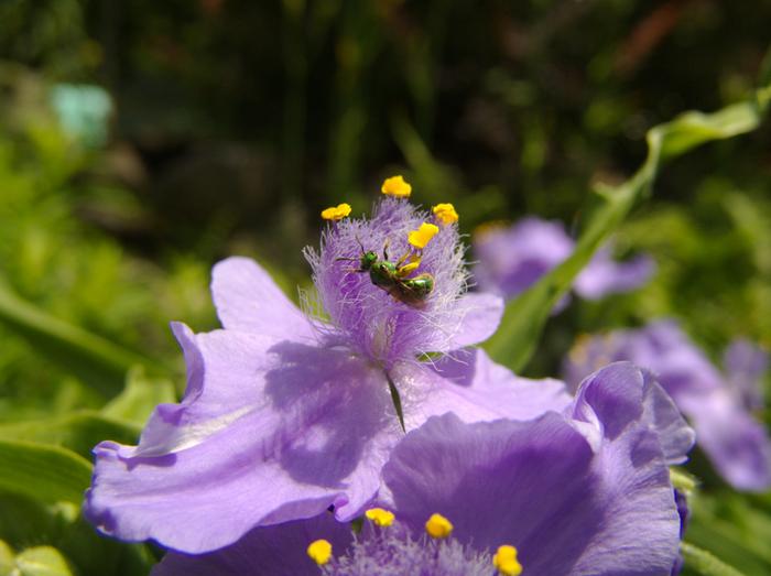
[[[376,496],[404,436],[391,388],[408,431],[446,412],[477,422],[566,405],[561,382],[519,379],[463,349],[492,334],[502,302],[465,294],[454,224],[410,251],[409,232],[426,220],[408,200],[387,198],[372,219],[327,228],[307,257],[328,319],[301,312],[253,261],[218,263],[211,292],[225,329],[173,325],[187,363],[184,399],[156,407],[138,446],[95,448],[87,518],[107,534],[188,553],[330,506],[346,521]],[[431,274],[424,301],[405,303],[358,271],[362,250],[384,249]],[[426,352],[446,354],[419,361]]]

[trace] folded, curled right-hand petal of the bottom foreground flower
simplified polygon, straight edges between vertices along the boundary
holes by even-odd
[[[594,469],[605,518],[571,574],[671,574],[681,520],[666,465],[685,458],[693,431],[658,384],[629,362],[587,378],[573,412],[598,424],[604,436]]]

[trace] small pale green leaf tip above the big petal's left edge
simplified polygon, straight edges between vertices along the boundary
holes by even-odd
[[[105,416],[144,424],[158,404],[176,401],[174,384],[162,378],[148,378],[139,366],[131,369],[126,388],[102,410]]]

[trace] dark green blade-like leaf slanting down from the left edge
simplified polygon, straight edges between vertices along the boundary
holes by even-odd
[[[134,365],[166,370],[153,360],[55,318],[20,298],[0,279],[0,322],[23,335],[52,358],[101,393],[112,395]]]

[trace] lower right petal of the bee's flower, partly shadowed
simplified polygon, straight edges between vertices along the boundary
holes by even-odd
[[[447,412],[464,422],[530,420],[550,410],[562,411],[571,402],[558,380],[518,378],[478,348],[445,356],[433,365],[398,365],[391,378],[401,395],[408,430]]]

